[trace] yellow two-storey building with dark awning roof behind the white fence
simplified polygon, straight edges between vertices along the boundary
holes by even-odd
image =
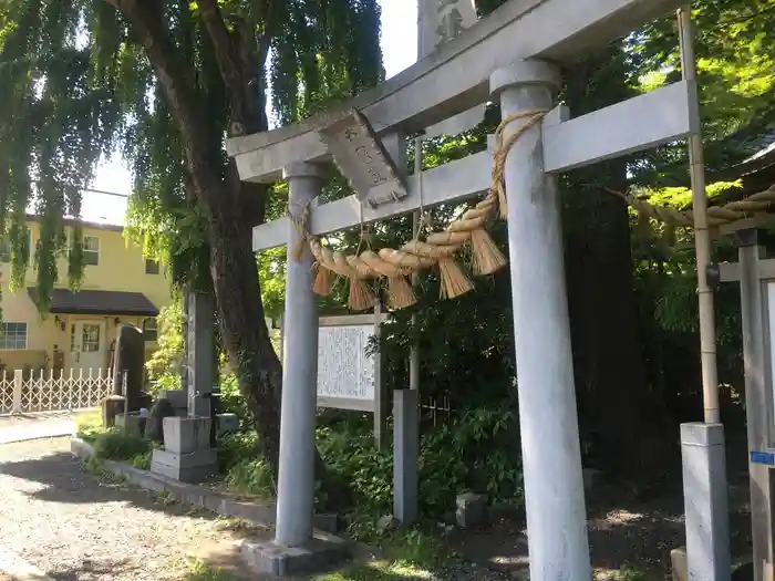
[[[65,220],[69,236],[72,224]],[[0,369],[65,374],[71,370],[75,374],[103,370],[104,375],[111,364],[117,325],[122,323],[144,331],[146,355],[156,346],[156,315],[172,302],[164,269],[146,259],[137,245],[127,242],[121,226],[81,224],[86,264],[81,290],[71,292],[66,288],[68,260],[61,258],[61,282],[45,315],[35,305],[37,270],[31,266],[24,288],[11,292],[10,253],[0,247]],[[40,231],[34,216],[28,217],[28,228],[30,248],[34,249]]]

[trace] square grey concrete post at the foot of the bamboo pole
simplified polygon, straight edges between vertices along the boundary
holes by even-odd
[[[688,579],[726,581],[731,557],[724,427],[682,424],[681,457]]]

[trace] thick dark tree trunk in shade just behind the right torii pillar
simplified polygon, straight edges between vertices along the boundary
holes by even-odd
[[[576,115],[630,96],[623,71],[614,69],[618,56],[610,49],[569,71],[567,97]],[[648,384],[628,208],[599,187],[626,189],[627,164],[596,165],[567,183],[566,263],[581,425],[606,468],[655,473],[668,432],[663,402]]]

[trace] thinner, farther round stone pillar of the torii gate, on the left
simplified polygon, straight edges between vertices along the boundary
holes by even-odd
[[[314,416],[318,383],[318,307],[312,292],[313,258],[301,238],[301,220],[323,185],[319,166],[299,162],[283,169],[288,179],[288,266],[282,345],[280,467],[277,490],[276,542],[301,547],[312,538],[314,510]],[[297,222],[296,226],[293,222]]]

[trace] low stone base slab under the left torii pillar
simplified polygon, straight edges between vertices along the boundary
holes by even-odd
[[[314,531],[314,537],[304,547],[282,547],[275,541],[245,539],[240,554],[257,573],[291,577],[335,567],[350,557],[350,546],[339,537]]]

